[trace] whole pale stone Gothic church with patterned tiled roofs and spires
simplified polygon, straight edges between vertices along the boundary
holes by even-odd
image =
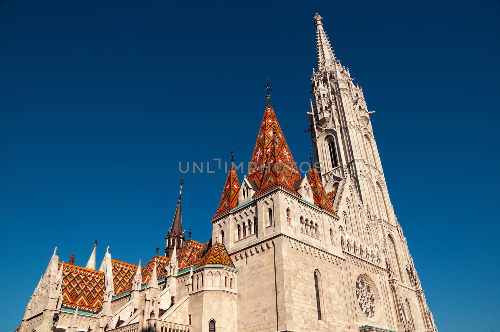
[[[16,331],[437,332],[390,203],[373,111],[317,13],[314,25],[307,176],[267,85],[252,167],[238,178],[231,164],[211,234],[186,239],[181,181],[164,251],[124,262],[108,247],[100,262],[96,241],[80,266],[55,247]]]

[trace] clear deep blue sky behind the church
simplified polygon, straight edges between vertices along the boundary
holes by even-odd
[[[440,332],[498,319],[497,1],[0,2],[2,330],[53,247],[85,264],[148,260],[185,181],[206,241],[225,179],[179,161],[247,162],[272,105],[308,158],[312,16],[363,87],[395,213]],[[240,179],[242,175],[239,175]]]

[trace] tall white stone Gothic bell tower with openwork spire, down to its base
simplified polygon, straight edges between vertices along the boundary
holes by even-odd
[[[390,203],[370,122],[374,111],[368,111],[363,90],[353,83],[349,68],[335,57],[323,18],[317,13],[314,25],[317,69],[312,69],[313,98],[306,131],[311,134],[327,197],[340,217],[330,234],[338,232],[342,253],[349,259],[383,268],[384,304],[394,317],[389,328],[436,332],[406,237]],[[366,316],[370,318],[370,313]]]

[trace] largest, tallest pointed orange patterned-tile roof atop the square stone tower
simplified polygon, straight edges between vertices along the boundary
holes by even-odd
[[[296,192],[293,185],[300,173],[271,105],[265,107],[247,178],[258,188],[253,196],[276,186]]]

